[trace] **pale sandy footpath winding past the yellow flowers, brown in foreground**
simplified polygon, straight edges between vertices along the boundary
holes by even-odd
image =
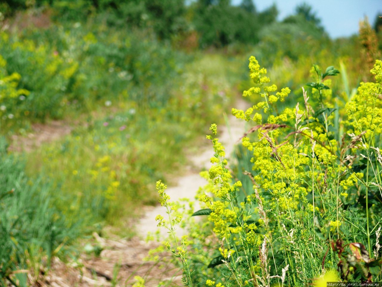
[[[235,105],[235,107],[239,109],[246,109],[248,106],[249,104],[243,100],[237,101]],[[225,125],[221,124],[218,126],[218,136],[225,146],[227,157],[231,155],[235,144],[245,131],[243,121],[238,120],[231,115],[227,116]],[[201,178],[199,171],[210,167],[211,163],[209,159],[212,157],[212,154],[212,147],[208,145],[201,148],[197,154],[189,159],[189,165],[186,167],[188,173],[177,178],[177,184],[170,186],[167,189],[167,194],[171,197],[171,200],[177,200],[184,197],[194,200],[198,188],[206,184],[206,180]],[[129,241],[117,240],[110,242],[106,240],[105,246],[107,246],[107,249],[101,252],[99,258],[84,260],[84,264],[87,266],[87,272],[89,272],[89,269],[94,269],[96,271],[101,270],[104,274],[112,276],[115,263],[120,262],[121,268],[119,270],[118,278],[123,278],[123,280],[130,278],[127,282],[120,280],[119,285],[121,286],[125,283],[127,286],[131,286],[135,275],[146,277],[148,281],[145,282],[145,286],[147,287],[156,287],[161,281],[172,282],[165,286],[182,285],[180,281],[181,271],[179,269],[173,269],[172,266],[163,266],[160,268],[160,264],[156,265],[156,263],[153,262],[142,261],[142,259],[147,256],[149,249],[158,246],[156,241],[146,243],[143,239],[146,238],[148,232],[154,233],[158,230],[155,216],[161,214],[164,217],[166,215],[165,210],[161,205],[145,207],[144,214],[144,217],[142,217],[136,224],[138,236]],[[167,237],[164,228],[160,228],[159,230],[161,232],[161,238],[164,239]],[[181,235],[182,233],[182,230],[177,230],[178,235]],[[158,259],[157,263],[161,262],[166,256],[169,256],[169,254],[165,252],[162,256],[163,257]],[[98,276],[98,278],[99,277],[100,276]],[[109,283],[107,281],[105,282],[104,278],[100,279],[103,280],[104,284]]]

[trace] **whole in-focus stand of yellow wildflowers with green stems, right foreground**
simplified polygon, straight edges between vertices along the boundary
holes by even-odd
[[[250,61],[255,85],[264,91],[254,108],[235,114],[243,126],[249,121],[254,128],[228,168],[219,132],[211,126],[207,137],[215,163],[203,173],[209,183],[197,194],[201,210],[180,208],[183,222],[172,221],[179,218],[173,211],[167,222],[158,220],[171,233],[163,248],[183,268],[184,285],[378,282],[382,61],[376,60],[371,70],[375,82],[361,83],[346,106],[336,107],[337,113],[331,107],[348,95],[338,99],[332,94],[332,82],[347,86],[335,68],[314,66],[316,82],[310,86],[315,88],[306,87],[301,103],[293,95],[283,101],[280,93],[269,91],[270,84],[261,83],[265,71],[255,58]],[[161,184],[163,209],[168,210],[175,203]],[[209,216],[197,221],[194,215]],[[188,227],[189,237],[182,237],[181,244],[173,235],[178,224]]]

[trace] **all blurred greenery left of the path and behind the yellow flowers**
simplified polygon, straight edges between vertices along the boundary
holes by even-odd
[[[293,102],[312,64],[340,68],[333,96],[345,104],[380,57],[381,19],[331,39],[309,5],[277,15],[251,0],[1,2],[0,277],[38,270],[78,236],[154,204],[153,183],[181,173],[186,151],[252,86],[249,55]],[[52,120],[72,132],[7,148]]]

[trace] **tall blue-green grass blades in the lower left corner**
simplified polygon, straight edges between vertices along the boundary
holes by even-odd
[[[26,286],[28,274],[39,276],[41,261],[49,266],[52,256],[65,253],[81,220],[70,222],[60,212],[50,183],[28,177],[25,161],[6,154],[3,138],[0,152],[0,282]]]

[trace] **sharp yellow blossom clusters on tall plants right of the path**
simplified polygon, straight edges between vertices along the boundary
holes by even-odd
[[[260,278],[256,272],[265,274],[265,282],[269,274],[264,264],[269,250],[272,254],[283,254],[288,266],[292,262],[290,258],[296,259],[296,256],[300,256],[297,260],[310,260],[304,259],[305,254],[301,251],[290,252],[291,244],[313,246],[314,243],[317,246],[314,254],[325,256],[327,248],[320,246],[325,246],[326,240],[333,238],[330,233],[342,233],[346,228],[341,231],[339,227],[349,222],[345,219],[348,210],[345,211],[344,206],[364,198],[365,186],[366,189],[380,188],[378,174],[382,156],[377,147],[382,132],[382,61],[377,60],[371,70],[376,83],[361,83],[358,93],[346,104],[345,121],[341,120],[346,116],[343,106],[336,106],[340,111],[334,109],[338,103],[333,103],[332,80],[326,78],[338,73],[332,66],[325,73],[321,73],[317,65],[312,68],[317,77],[316,82],[308,84],[312,87],[308,92],[320,101],[309,102],[308,94],[301,91],[304,102],[301,106],[296,103],[294,108],[277,106],[278,102],[285,101],[291,90],[287,87],[278,90],[276,85],[269,84],[266,69],[260,67],[255,57],[249,59],[249,69],[255,86],[244,91],[243,96],[260,94],[264,100],[246,110],[231,110],[235,117],[254,123],[242,138],[251,165],[236,166],[238,170],[234,170],[235,176],[238,173],[248,176],[248,182],[243,188],[240,181],[233,180],[223,158],[224,148],[215,137],[217,127],[212,125],[213,135],[207,135],[207,139],[211,140],[215,150],[210,160],[213,165],[208,172],[202,173],[209,183],[199,190],[198,196],[203,207],[210,209],[208,219],[220,239],[220,254],[224,258],[235,257],[225,262],[228,268],[238,274],[240,264],[235,264],[235,260],[248,258],[251,262],[246,266],[251,266],[251,270],[244,272],[251,276],[256,274],[254,280]],[[341,132],[343,134],[338,134]],[[364,174],[357,172],[364,169],[369,172],[367,179],[374,173],[373,182],[364,181]],[[252,189],[248,188],[251,183]],[[371,199],[366,192],[366,209],[369,206],[373,209],[374,205],[368,205],[367,200]],[[361,206],[361,203],[355,205]],[[364,208],[360,209],[364,212]],[[355,207],[351,212],[354,210]],[[369,214],[374,217],[374,210]],[[342,238],[341,234],[338,238]],[[303,249],[308,257],[314,258],[309,248]],[[314,264],[321,268],[324,263]],[[328,260],[325,264],[333,263]],[[295,274],[302,272],[296,272],[299,266],[291,268],[295,268]],[[285,269],[280,269],[285,276]],[[306,280],[306,277],[299,277],[299,280]],[[207,286],[214,284],[212,279],[206,281]]]

